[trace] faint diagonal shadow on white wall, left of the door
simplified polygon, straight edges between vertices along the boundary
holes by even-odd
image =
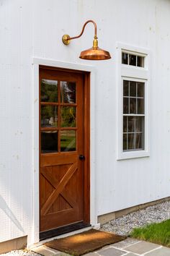
[[[0,195],[0,209],[6,213],[6,216],[8,216],[11,221],[17,226],[17,228],[24,233],[24,229],[22,228],[21,224],[17,220],[17,218],[14,216],[14,213],[12,213],[12,210],[9,208],[9,206],[6,204],[4,198]]]

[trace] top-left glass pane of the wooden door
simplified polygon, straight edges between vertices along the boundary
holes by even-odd
[[[41,80],[41,96],[42,102],[58,102],[58,81]]]

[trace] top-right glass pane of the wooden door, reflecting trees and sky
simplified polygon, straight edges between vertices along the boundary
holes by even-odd
[[[76,82],[61,82],[61,103],[76,103]]]

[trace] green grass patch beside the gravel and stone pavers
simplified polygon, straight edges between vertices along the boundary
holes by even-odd
[[[130,236],[170,247],[170,220],[133,229]]]

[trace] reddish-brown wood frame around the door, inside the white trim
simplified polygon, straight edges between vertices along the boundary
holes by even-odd
[[[49,67],[40,65],[39,66],[39,76],[40,69],[55,70],[56,72],[66,72],[81,74],[83,79],[83,145],[84,145],[84,156],[86,161],[83,161],[84,169],[84,223],[90,223],[90,72],[83,72],[74,69],[63,69],[58,67]],[[40,81],[39,81],[39,98],[40,98]],[[40,137],[40,101],[39,101],[39,137]],[[39,138],[39,148],[40,148],[40,138]],[[39,166],[40,166],[40,150],[39,150]],[[40,193],[39,193],[40,196]],[[39,201],[40,203],[40,201]]]

